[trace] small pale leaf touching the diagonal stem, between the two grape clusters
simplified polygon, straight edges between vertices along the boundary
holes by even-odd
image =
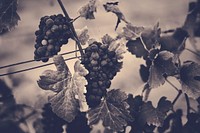
[[[82,30],[77,31],[77,36],[82,45],[85,45],[90,36],[88,35],[88,28],[85,26]]]

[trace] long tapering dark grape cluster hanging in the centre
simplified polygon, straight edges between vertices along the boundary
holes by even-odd
[[[119,72],[122,62],[119,62],[114,51],[108,50],[109,45],[93,42],[85,49],[82,64],[89,71],[86,75],[86,101],[89,107],[100,104],[105,96],[106,89],[110,87],[111,80]]]

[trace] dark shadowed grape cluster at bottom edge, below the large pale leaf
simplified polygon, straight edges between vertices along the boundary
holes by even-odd
[[[42,113],[43,130],[44,133],[62,133],[62,126],[66,123],[63,119],[59,118],[53,111],[50,104],[45,104]]]

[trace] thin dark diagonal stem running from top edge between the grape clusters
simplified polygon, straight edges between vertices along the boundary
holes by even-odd
[[[71,18],[69,17],[69,15],[68,15],[68,13],[67,13],[67,10],[65,9],[65,7],[64,7],[64,5],[63,5],[63,3],[62,3],[62,1],[61,1],[61,0],[57,0],[57,1],[58,1],[59,5],[60,5],[60,7],[61,7],[61,9],[62,9],[62,11],[63,11],[65,17],[66,17],[67,19],[71,20]],[[77,34],[76,34],[76,31],[75,31],[75,29],[74,29],[74,25],[73,25],[73,23],[69,23],[69,25],[70,25],[71,32],[72,32],[72,34],[73,34],[73,36],[74,36],[74,39],[75,39],[75,41],[76,41],[76,44],[78,45],[78,48],[79,48],[81,57],[83,57],[84,52],[83,52],[81,43],[80,43],[80,41],[79,41],[79,39],[78,39],[78,36],[77,36]]]

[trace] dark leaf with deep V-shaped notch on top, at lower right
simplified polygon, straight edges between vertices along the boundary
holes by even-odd
[[[162,126],[170,109],[172,109],[172,103],[166,100],[166,97],[161,97],[156,108],[148,101],[141,107],[140,122],[147,123],[148,125]]]

